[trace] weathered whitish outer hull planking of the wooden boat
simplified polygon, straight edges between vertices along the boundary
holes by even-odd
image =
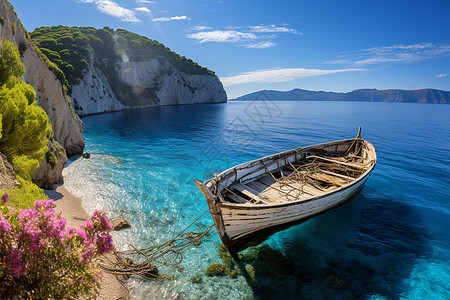
[[[348,146],[349,140],[342,142],[347,143],[346,147],[350,148]],[[337,143],[338,145],[339,141],[330,144],[334,145],[333,143]],[[373,148],[370,143],[368,144]],[[326,146],[327,144],[323,145]],[[207,199],[209,210],[222,242],[231,252],[237,252],[249,245],[261,242],[267,236],[270,236],[277,231],[302,223],[314,216],[352,200],[364,187],[364,184],[375,167],[376,156],[374,151],[373,148],[373,164],[353,182],[343,185],[331,192],[298,201],[274,203],[272,205],[228,203],[221,201],[221,199],[219,199],[220,197],[217,196],[217,192],[216,195],[214,195],[214,189],[211,188],[212,185],[207,185],[208,181],[202,183],[196,180],[196,184]],[[292,156],[290,152],[284,153],[287,153],[285,157],[289,157],[289,155]],[[297,151],[294,156],[298,155],[298,153],[300,152]],[[276,155],[274,155],[274,157]],[[297,156],[295,157],[297,158]],[[267,161],[269,158],[270,157],[265,158],[265,160]],[[282,159],[286,160],[286,158]],[[277,165],[280,164],[281,160]],[[249,162],[249,167],[245,168],[249,169],[253,165],[252,162]],[[218,176],[220,176],[220,174]]]

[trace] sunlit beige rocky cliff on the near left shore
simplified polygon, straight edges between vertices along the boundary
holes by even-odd
[[[26,83],[34,87],[36,100],[45,110],[53,128],[54,140],[49,141],[49,151],[62,145],[68,155],[82,153],[84,149],[84,137],[81,133],[83,123],[72,111],[68,100],[65,98],[63,87],[56,75],[48,68],[36,54],[33,46],[27,41],[22,25],[12,7],[4,0],[0,0],[0,39],[13,42],[21,51],[22,63],[25,66],[23,76]],[[53,154],[52,154],[53,155]],[[61,170],[67,158],[64,154],[58,154],[60,159],[58,167],[49,165],[44,159],[33,175],[39,185],[49,186],[53,182],[61,180]],[[44,171],[54,170],[52,174]],[[56,174],[55,172],[59,172]],[[53,174],[55,173],[55,174]]]

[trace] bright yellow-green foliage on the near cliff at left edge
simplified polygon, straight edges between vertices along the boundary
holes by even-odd
[[[25,72],[14,44],[5,41],[0,49],[0,152],[26,180],[47,152],[51,125],[35,101],[32,86],[20,80]]]

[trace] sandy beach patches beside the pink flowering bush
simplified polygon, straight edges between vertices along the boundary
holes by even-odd
[[[50,199],[55,200],[55,210],[61,212],[62,216],[67,219],[66,226],[80,227],[89,218],[81,205],[81,199],[70,194],[64,186],[58,186],[56,190],[45,190],[45,194]],[[104,273],[98,299],[118,300],[128,298],[127,289],[122,286],[116,277]]]

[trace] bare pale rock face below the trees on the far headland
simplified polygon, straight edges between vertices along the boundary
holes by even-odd
[[[108,77],[96,67],[98,60],[93,53],[89,70],[72,87],[74,108],[80,116],[132,107],[227,101],[217,76],[186,74],[164,58],[116,62],[116,74]],[[119,87],[112,86],[111,77],[118,79]]]

